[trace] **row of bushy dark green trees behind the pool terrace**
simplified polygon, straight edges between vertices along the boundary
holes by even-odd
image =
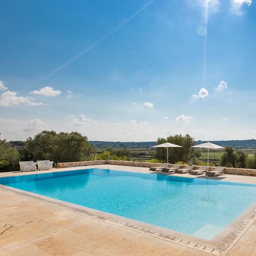
[[[185,136],[177,134],[166,139],[157,139],[157,144],[165,142],[182,146],[182,148],[168,149],[169,163],[188,164],[190,160],[193,160],[194,164],[205,164],[198,162],[199,153],[191,148],[195,145],[195,140],[189,134]],[[151,162],[166,162],[166,158],[166,148],[156,148]],[[96,154],[94,145],[87,140],[86,136],[78,132],[42,131],[34,138],[29,137],[25,142],[18,141],[15,143],[0,139],[0,172],[19,170],[19,161],[45,159],[49,159],[55,164],[104,159],[134,161],[130,149],[127,148],[113,148],[110,146],[102,154]],[[256,169],[256,153],[253,158],[249,158],[244,151],[234,151],[232,147],[227,147],[221,157],[220,165]]]

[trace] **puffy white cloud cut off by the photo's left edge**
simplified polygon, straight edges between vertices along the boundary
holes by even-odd
[[[17,96],[17,92],[6,91],[0,95],[0,106],[19,106],[21,104],[29,106],[44,105],[42,102],[33,102],[28,97]]]

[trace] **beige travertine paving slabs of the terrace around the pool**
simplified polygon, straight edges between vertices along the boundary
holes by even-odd
[[[109,165],[93,167],[148,172],[148,169],[141,167]],[[85,169],[85,167],[74,169]],[[61,170],[50,172],[52,171]],[[42,172],[45,171],[38,173]],[[24,175],[24,173],[1,173],[0,175],[20,174]],[[236,175],[225,175],[222,180],[256,183],[256,177],[232,176]],[[182,243],[157,238],[158,234],[154,236],[150,234],[150,230],[149,234],[146,234],[132,227],[117,224],[0,188],[0,233],[13,225],[0,235],[0,256],[209,255],[183,246]],[[183,243],[186,242],[189,241],[183,241]],[[227,255],[256,255],[255,221]]]

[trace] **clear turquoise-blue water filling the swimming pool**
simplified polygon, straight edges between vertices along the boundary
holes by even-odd
[[[89,169],[0,178],[6,186],[212,239],[256,201],[256,186]]]

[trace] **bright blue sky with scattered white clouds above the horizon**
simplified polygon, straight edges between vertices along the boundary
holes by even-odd
[[[1,1],[1,138],[256,138],[255,23],[253,0]]]

